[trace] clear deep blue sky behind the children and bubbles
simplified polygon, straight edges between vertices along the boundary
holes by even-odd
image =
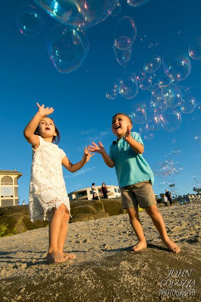
[[[131,112],[136,102],[148,102],[150,91],[139,89],[131,100],[120,95],[115,100],[106,98],[106,91],[125,70],[120,66],[113,51],[114,28],[123,16],[130,16],[137,27],[137,37],[132,47],[132,57],[126,65],[134,71],[142,68],[144,61],[154,54],[161,57],[172,49],[187,52],[190,41],[201,37],[200,10],[197,0],[151,0],[139,8],[131,8],[122,0],[122,10],[117,17],[109,17],[105,22],[86,31],[89,52],[82,66],[70,73],[60,73],[53,66],[45,47],[45,37],[50,28],[57,24],[45,11],[38,8],[44,21],[44,29],[37,37],[22,35],[16,25],[16,11],[22,4],[30,1],[7,1],[1,4],[1,103],[0,118],[2,130],[1,170],[15,167],[23,173],[19,179],[20,201],[28,202],[29,180],[32,160],[31,146],[23,136],[23,130],[37,111],[36,102],[52,106],[51,115],[61,134],[60,148],[64,149],[72,163],[82,158],[84,146],[102,141],[106,150],[115,138],[111,131],[112,116],[117,112]],[[141,37],[146,35],[145,41]],[[153,47],[149,45],[153,44]],[[200,104],[201,60],[190,59],[192,70],[187,79],[180,82],[189,88],[190,94]],[[162,72],[162,66],[156,74]],[[156,81],[156,80],[155,80]],[[157,82],[153,82],[157,83]],[[167,132],[162,127],[154,132],[154,139],[147,141],[144,158],[152,168],[157,162],[164,162],[165,155],[172,150],[181,150],[180,155],[171,156],[178,161],[184,171],[176,177],[175,188],[181,194],[192,193],[197,186],[192,174],[201,171],[200,147],[194,136],[200,131],[201,110],[196,106],[191,114],[181,114],[180,127]],[[134,124],[139,132],[139,124]],[[199,132],[200,133],[200,132]],[[172,143],[172,140],[176,140]],[[115,169],[108,168],[100,155],[96,154],[82,170],[75,174],[64,170],[67,191],[105,182],[118,185]],[[168,179],[167,179],[168,180]],[[154,191],[164,192],[157,186]],[[185,187],[184,184],[189,186]]]

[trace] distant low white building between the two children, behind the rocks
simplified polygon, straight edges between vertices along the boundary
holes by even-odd
[[[98,192],[98,197],[100,199],[104,198],[104,195],[101,193],[101,186],[95,186],[96,191]],[[120,189],[117,186],[108,186],[108,198],[116,198],[116,197],[121,197],[121,193],[120,193]],[[83,189],[79,189],[73,192],[70,192],[68,194],[68,197],[70,199],[70,201],[73,201],[74,199],[76,200],[92,200],[92,191],[91,191],[91,187],[88,188],[83,188]]]

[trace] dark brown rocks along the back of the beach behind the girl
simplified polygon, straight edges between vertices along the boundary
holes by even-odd
[[[125,213],[126,210],[122,210],[121,198],[75,200],[70,202],[72,218],[69,222],[107,218]],[[48,225],[48,221],[31,222],[28,205],[0,208],[0,237],[44,228],[46,225]]]

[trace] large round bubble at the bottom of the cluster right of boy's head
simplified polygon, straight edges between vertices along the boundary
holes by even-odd
[[[166,131],[175,131],[181,124],[180,111],[174,108],[167,108],[165,113],[159,115],[161,125]]]

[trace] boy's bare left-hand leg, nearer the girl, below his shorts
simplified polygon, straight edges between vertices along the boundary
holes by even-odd
[[[133,227],[133,230],[138,238],[138,243],[134,245],[132,249],[134,252],[138,252],[147,247],[146,239],[144,237],[144,233],[142,230],[142,223],[140,221],[140,217],[138,213],[138,208],[129,207],[127,208],[127,212],[129,214],[129,219]]]

